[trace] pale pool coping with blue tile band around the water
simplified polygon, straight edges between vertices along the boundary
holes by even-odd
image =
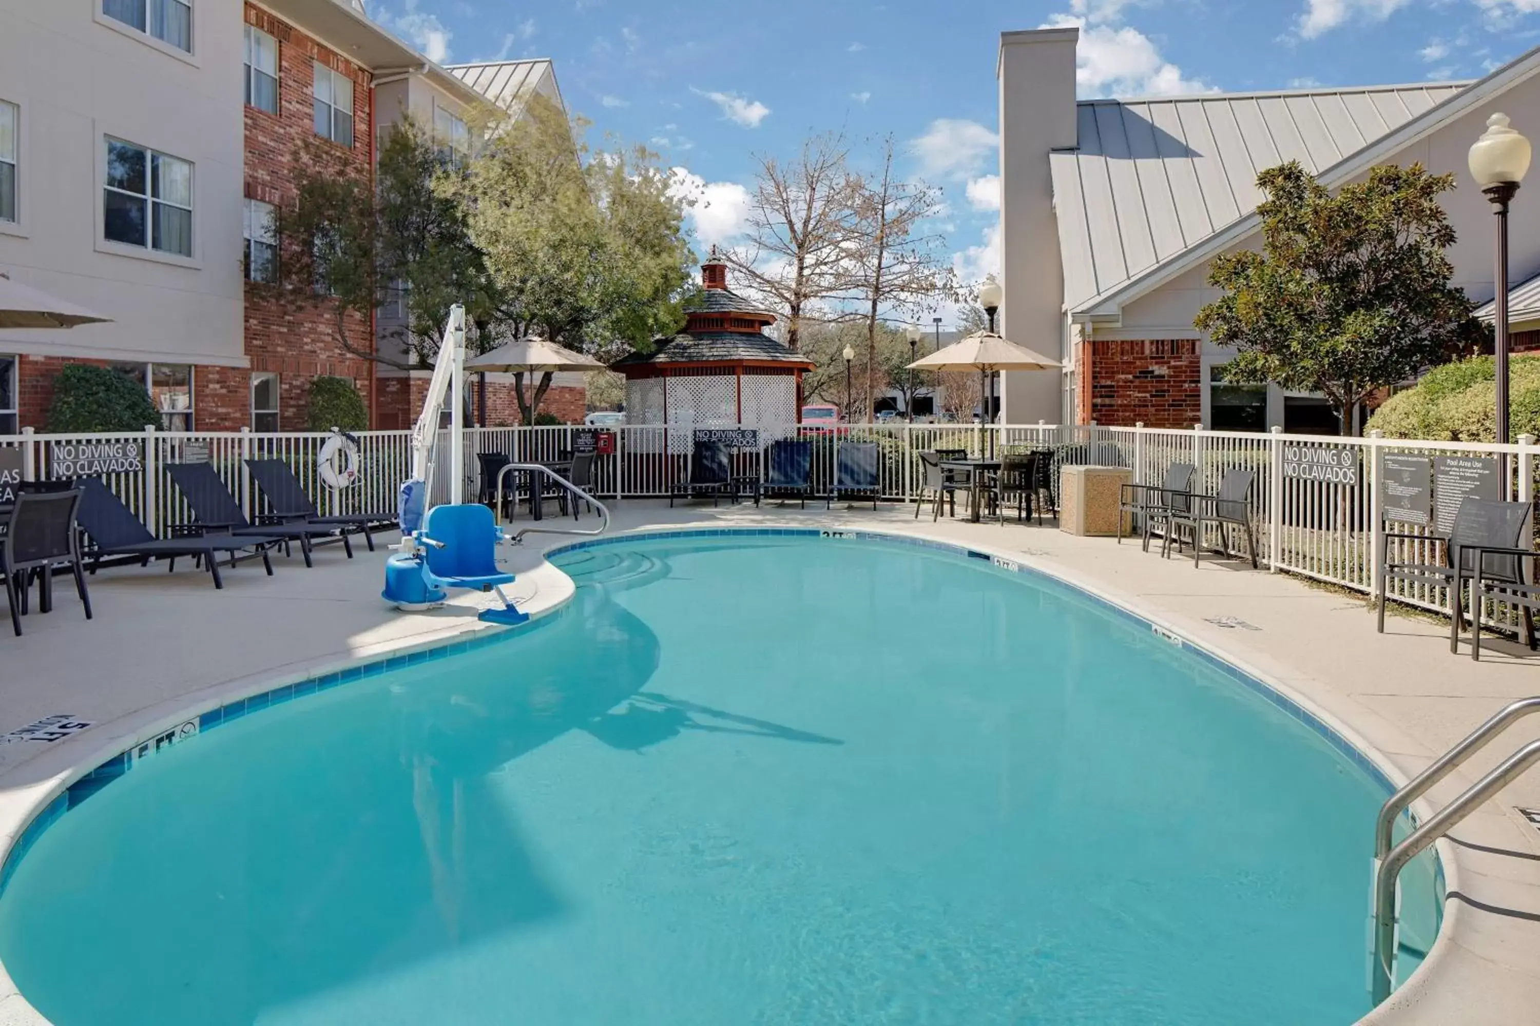
[[[576,594],[571,578],[556,568],[551,558],[564,552],[622,545],[638,538],[653,540],[668,537],[822,537],[833,541],[881,541],[941,551],[953,557],[978,558],[989,561],[990,566],[1004,572],[1038,575],[1078,592],[1113,615],[1147,626],[1167,641],[1192,651],[1203,661],[1221,671],[1227,678],[1312,729],[1337,754],[1358,766],[1375,783],[1394,791],[1400,783],[1406,781],[1406,775],[1395,768],[1394,761],[1374,745],[1368,743],[1348,723],[1311,698],[1298,694],[1298,691],[1278,680],[1274,674],[1252,666],[1247,660],[1226,652],[1221,646],[1194,637],[1189,631],[1170,623],[1160,611],[1149,608],[1140,598],[1120,594],[1116,589],[1086,580],[1080,574],[1066,572],[1063,568],[1046,566],[1041,560],[1024,557],[1019,552],[1001,551],[989,545],[964,545],[942,540],[927,535],[922,531],[899,534],[893,531],[808,526],[679,528],[678,525],[659,525],[584,541],[556,543],[544,549],[541,563],[521,574],[522,577],[539,577],[542,581],[553,585],[548,589],[537,589],[533,600],[525,606],[525,611],[530,614],[528,623],[505,628],[471,618],[400,641],[371,645],[348,658],[323,658],[317,660],[316,665],[282,674],[262,671],[219,681],[194,695],[171,698],[105,725],[95,725],[102,728],[102,734],[99,735],[102,740],[89,746],[83,743],[86,738],[80,738],[75,743],[65,741],[55,752],[46,752],[22,763],[15,769],[0,775],[0,784],[5,783],[5,777],[17,775],[23,768],[32,768],[35,772],[40,763],[42,766],[48,766],[49,761],[59,765],[49,768],[48,774],[29,784],[22,784],[12,792],[0,792],[3,794],[3,801],[0,801],[0,895],[3,895],[5,886],[15,872],[15,866],[26,857],[32,843],[59,817],[74,804],[88,800],[117,777],[131,771],[139,760],[152,757],[159,751],[191,740],[206,731],[217,729],[248,712],[260,712],[291,698],[319,694],[343,683],[365,680],[394,669],[522,637],[531,629],[550,623],[554,614],[568,609]],[[49,760],[49,755],[55,758]],[[1414,803],[1414,812],[1418,818],[1426,818],[1432,809],[1424,800],[1418,800]],[[1435,844],[1435,854],[1438,872],[1445,884],[1443,891],[1458,891],[1458,855],[1454,846],[1440,840]],[[1432,948],[1417,971],[1397,989],[1397,994],[1411,991],[1414,983],[1420,988],[1429,984],[1428,977],[1437,972],[1437,963],[1446,958],[1452,946],[1451,938],[1460,928],[1458,924],[1463,918],[1460,908],[1460,903],[1445,903],[1441,926]],[[1392,994],[1389,1001],[1371,1011],[1360,1021],[1392,1021],[1392,1018],[1398,1018],[1394,1015],[1395,1011],[1397,1001]],[[18,992],[3,964],[0,964],[0,1026],[48,1026],[48,1020]]]

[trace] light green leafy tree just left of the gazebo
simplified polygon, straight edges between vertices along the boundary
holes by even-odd
[[[539,335],[584,352],[651,348],[684,323],[679,308],[695,257],[682,234],[684,202],[645,148],[593,152],[584,125],[534,97],[453,182],[471,245],[485,261],[497,337]],[[576,140],[579,142],[574,142]],[[525,423],[551,383],[533,395],[516,374]]]

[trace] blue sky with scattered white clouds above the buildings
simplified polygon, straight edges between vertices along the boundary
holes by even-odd
[[[1083,26],[1083,95],[1480,77],[1540,43],[1540,0],[367,0],[430,57],[550,57],[564,98],[645,142],[699,197],[698,251],[732,243],[753,154],[892,132],[946,189],[964,277],[996,260],[998,34]]]

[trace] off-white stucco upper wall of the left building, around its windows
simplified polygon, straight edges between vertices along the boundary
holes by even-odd
[[[240,3],[194,0],[191,55],[99,9],[0,0],[0,100],[22,108],[22,225],[0,226],[0,271],[114,323],[0,331],[0,352],[243,365]],[[196,165],[191,260],[102,243],[103,135]]]

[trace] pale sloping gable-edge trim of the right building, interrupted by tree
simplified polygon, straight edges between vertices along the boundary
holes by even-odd
[[[1380,138],[1361,146],[1357,152],[1349,154],[1335,165],[1320,171],[1317,174],[1317,180],[1332,189],[1352,182],[1357,175],[1364,174],[1374,165],[1388,160],[1406,146],[1432,135],[1443,125],[1461,117],[1472,108],[1502,95],[1508,89],[1512,89],[1537,74],[1540,74],[1540,46],[1515,57],[1489,74],[1486,78],[1465,88],[1458,88],[1454,95],[1446,97],[1432,109],[1418,114],[1400,128],[1386,132]],[[1448,85],[1458,86],[1458,83]],[[1207,238],[1200,240],[1173,257],[1161,260],[1153,268],[1138,272],[1123,285],[1113,286],[1110,291],[1103,291],[1095,298],[1086,300],[1076,306],[1069,306],[1067,309],[1076,315],[1076,320],[1116,318],[1120,317],[1120,311],[1124,303],[1133,301],[1170,281],[1177,275],[1201,266],[1212,257],[1243,242],[1260,226],[1261,218],[1257,217],[1255,211],[1250,211],[1230,225],[1220,228]]]

